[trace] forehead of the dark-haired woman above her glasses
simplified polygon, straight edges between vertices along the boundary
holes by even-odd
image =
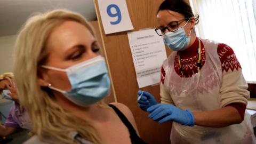
[[[179,21],[183,18],[181,13],[170,10],[162,10],[157,13],[157,22],[160,26],[167,26],[170,22]]]

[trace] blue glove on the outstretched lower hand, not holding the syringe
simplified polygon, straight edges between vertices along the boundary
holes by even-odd
[[[181,110],[173,105],[166,105],[159,103],[149,107],[147,111],[150,113],[149,118],[154,121],[164,123],[167,121],[174,121],[182,125],[194,126],[195,117],[189,110]]]

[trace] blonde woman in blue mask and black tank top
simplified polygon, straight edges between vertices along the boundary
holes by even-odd
[[[143,143],[129,108],[103,104],[108,70],[80,14],[35,15],[15,46],[19,99],[33,123],[34,136],[26,143]]]

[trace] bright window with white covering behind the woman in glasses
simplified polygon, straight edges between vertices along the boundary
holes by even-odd
[[[232,47],[248,83],[256,83],[256,0],[190,0],[196,34]]]

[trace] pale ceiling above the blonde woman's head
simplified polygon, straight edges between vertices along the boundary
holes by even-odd
[[[0,37],[15,35],[36,12],[68,9],[91,21],[96,20],[93,0],[0,0]]]

